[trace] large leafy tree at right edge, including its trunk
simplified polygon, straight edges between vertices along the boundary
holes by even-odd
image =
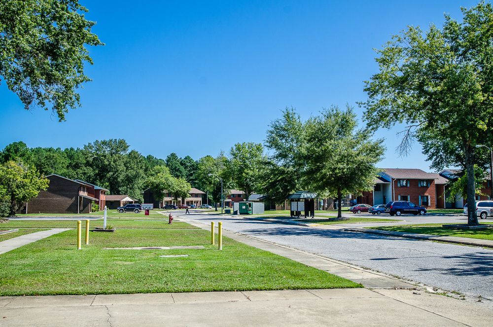
[[[377,50],[380,72],[365,82],[360,106],[369,128],[406,123],[401,153],[416,137],[428,149],[437,139],[459,147],[468,224],[477,225],[476,145],[493,144],[493,8],[481,1],[461,10],[462,22],[445,15],[441,30],[432,24],[426,33],[408,26]]]

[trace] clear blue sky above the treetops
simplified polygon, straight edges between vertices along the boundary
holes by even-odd
[[[363,80],[377,73],[375,52],[407,25],[441,26],[444,13],[477,1],[96,1],[80,0],[105,46],[91,47],[93,79],[66,122],[26,111],[0,85],[0,149],[82,147],[125,139],[141,154],[199,159],[235,143],[263,143],[285,107],[308,118],[322,108],[355,107]],[[382,168],[429,163],[415,144],[399,158],[398,127],[386,138]]]

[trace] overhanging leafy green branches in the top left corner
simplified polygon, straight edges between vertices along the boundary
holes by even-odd
[[[63,121],[80,106],[75,89],[91,80],[83,69],[93,63],[85,45],[103,45],[87,11],[78,0],[0,1],[0,76],[25,109],[49,102]]]

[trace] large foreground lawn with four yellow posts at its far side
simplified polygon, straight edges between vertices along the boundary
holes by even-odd
[[[217,235],[216,235],[217,237]],[[69,230],[0,255],[0,295],[119,294],[358,288],[359,284],[210,232],[132,229],[91,233],[76,250]],[[103,250],[201,245],[203,250]],[[188,254],[188,257],[159,255]]]

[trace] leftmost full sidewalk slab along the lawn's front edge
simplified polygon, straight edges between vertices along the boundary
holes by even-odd
[[[16,296],[5,308],[88,306],[96,295]]]

